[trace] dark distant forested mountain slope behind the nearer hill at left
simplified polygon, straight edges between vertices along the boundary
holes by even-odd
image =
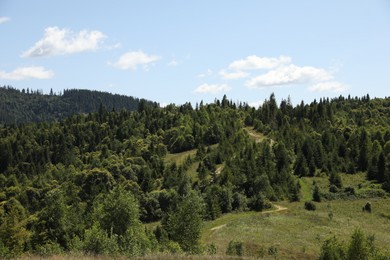
[[[137,110],[144,99],[92,90],[64,90],[62,95],[0,87],[0,124],[53,121],[79,113],[92,113],[102,104],[107,110]]]

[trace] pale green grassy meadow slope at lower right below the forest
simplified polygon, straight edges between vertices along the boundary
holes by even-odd
[[[371,214],[362,212],[368,199],[333,200],[316,203],[316,211],[304,209],[304,202],[311,199],[313,181],[323,190],[327,188],[326,177],[303,178],[302,201],[281,202],[287,210],[275,213],[230,213],[214,221],[206,222],[202,242],[215,244],[219,255],[226,252],[231,240],[244,243],[247,256],[256,257],[263,250],[268,256],[270,247],[277,248],[277,257],[315,259],[324,240],[335,235],[349,241],[353,230],[360,227],[366,234],[375,234],[376,244],[390,251],[390,198],[369,199]],[[345,186],[369,187],[364,174],[343,175]],[[332,212],[333,218],[329,217]]]

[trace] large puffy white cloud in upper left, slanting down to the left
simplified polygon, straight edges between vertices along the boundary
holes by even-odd
[[[69,29],[48,27],[44,36],[33,47],[25,51],[22,57],[41,57],[65,55],[100,48],[106,36],[99,31],[80,31],[75,33]]]

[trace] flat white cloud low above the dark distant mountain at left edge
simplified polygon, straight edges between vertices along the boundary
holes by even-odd
[[[6,80],[50,79],[53,76],[53,71],[38,66],[21,67],[11,72],[0,71],[0,78]]]

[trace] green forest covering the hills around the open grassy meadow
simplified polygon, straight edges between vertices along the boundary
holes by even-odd
[[[299,259],[307,257],[306,245],[283,252],[231,237],[222,250],[204,238],[211,232],[205,227],[227,217],[262,218],[279,203],[299,205],[302,214],[337,201],[389,204],[390,98],[340,96],[294,106],[271,94],[253,108],[223,96],[162,108],[78,90],[7,91],[0,89],[0,258]],[[370,186],[349,183],[359,176]],[[359,214],[375,214],[376,204],[361,206]],[[390,213],[381,214],[389,231]],[[337,217],[336,210],[326,215]],[[347,239],[326,235],[310,257],[389,259],[390,248],[359,228]],[[381,236],[376,242],[386,244]]]

